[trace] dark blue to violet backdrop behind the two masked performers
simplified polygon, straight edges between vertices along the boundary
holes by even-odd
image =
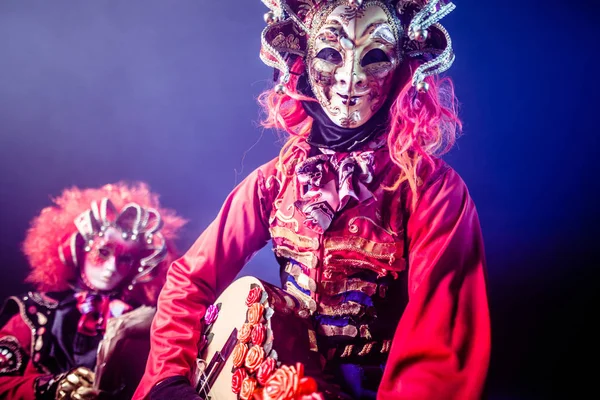
[[[480,212],[496,399],[573,398],[597,380],[594,1],[456,0],[444,24],[464,136],[446,159]],[[258,0],[0,2],[0,295],[26,289],[28,223],[70,185],[144,180],[191,222],[182,250],[278,152]],[[270,250],[243,273],[275,280]],[[587,325],[587,327],[586,327]],[[588,333],[589,332],[589,333]],[[577,396],[575,396],[577,397]]]

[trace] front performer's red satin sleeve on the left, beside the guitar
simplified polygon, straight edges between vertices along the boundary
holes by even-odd
[[[227,197],[216,219],[189,251],[175,261],[159,299],[152,324],[146,372],[134,399],[166,378],[190,379],[206,307],[233,281],[270,236],[272,199],[267,189],[276,180],[275,162],[252,172]]]

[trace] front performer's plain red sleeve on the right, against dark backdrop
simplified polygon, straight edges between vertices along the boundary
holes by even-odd
[[[409,301],[378,399],[479,399],[490,354],[483,238],[452,169],[426,187],[407,223]]]

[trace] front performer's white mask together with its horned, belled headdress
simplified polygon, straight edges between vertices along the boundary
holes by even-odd
[[[290,65],[306,62],[313,93],[329,118],[346,128],[368,121],[389,97],[395,69],[415,60],[411,84],[454,61],[452,42],[439,23],[455,6],[448,0],[262,0],[269,8],[260,57],[280,72],[285,93]]]

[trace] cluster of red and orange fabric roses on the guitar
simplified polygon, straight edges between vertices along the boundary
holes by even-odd
[[[271,334],[267,332],[267,320],[272,316],[270,308],[265,313],[266,300],[266,293],[260,287],[251,287],[246,299],[247,322],[238,331],[238,342],[231,355],[234,365],[231,390],[242,400],[323,399],[317,392],[316,381],[304,376],[301,363],[281,365],[274,350],[265,352],[263,345]]]

